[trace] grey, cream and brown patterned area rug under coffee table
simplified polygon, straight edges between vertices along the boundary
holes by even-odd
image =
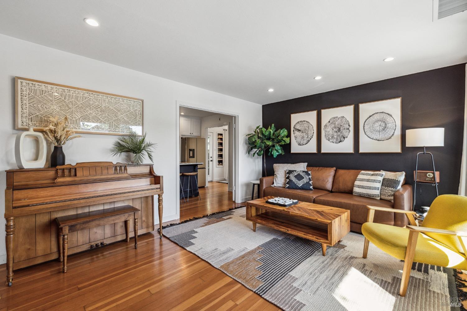
[[[164,228],[163,235],[283,310],[459,311],[455,271],[414,263],[406,297],[403,262],[350,232],[321,244],[245,219],[245,207]],[[460,282],[459,282],[460,283]],[[462,295],[462,291],[459,291]]]

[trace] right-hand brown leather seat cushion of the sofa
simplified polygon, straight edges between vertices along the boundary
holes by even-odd
[[[393,207],[393,203],[390,201],[370,199],[358,195],[343,193],[323,194],[315,198],[313,203],[348,209],[350,210],[350,221],[357,223],[364,223],[367,221],[367,205]],[[374,221],[393,225],[394,213],[375,211]]]

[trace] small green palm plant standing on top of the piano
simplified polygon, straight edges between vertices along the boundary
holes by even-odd
[[[147,141],[146,134],[140,136],[135,131],[130,131],[128,136],[121,136],[117,141],[113,142],[110,152],[113,156],[120,156],[122,153],[127,152],[130,162],[136,165],[143,163],[145,154],[153,162],[152,152],[154,152],[157,144]]]

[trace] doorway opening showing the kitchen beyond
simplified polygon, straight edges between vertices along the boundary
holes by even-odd
[[[239,206],[237,116],[177,102],[180,221]]]

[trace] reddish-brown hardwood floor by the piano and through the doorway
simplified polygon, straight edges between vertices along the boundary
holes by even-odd
[[[226,184],[201,189],[201,200],[183,204],[183,217],[236,205],[231,193],[216,189],[226,190]],[[0,286],[0,311],[280,310],[165,237],[148,233],[139,236],[138,249],[132,244],[71,255],[65,274],[57,261],[15,270],[13,286]],[[0,275],[6,275],[5,264]]]

